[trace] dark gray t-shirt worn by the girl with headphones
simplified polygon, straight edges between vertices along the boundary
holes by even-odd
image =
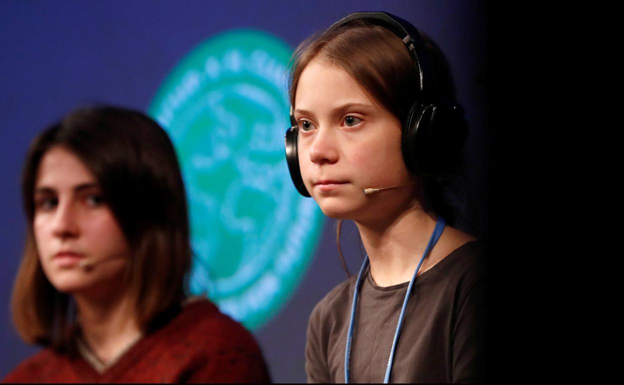
[[[394,354],[392,383],[485,381],[485,247],[460,246],[416,278]],[[409,282],[380,287],[366,271],[351,347],[351,383],[383,383]],[[344,383],[354,275],[330,291],[308,323],[308,383]]]

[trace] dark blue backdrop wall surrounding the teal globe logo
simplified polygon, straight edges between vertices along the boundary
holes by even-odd
[[[388,11],[425,31],[449,59],[457,99],[470,122],[466,146],[470,231],[492,241],[493,251],[500,251],[506,231],[502,225],[510,221],[501,220],[504,216],[497,210],[512,187],[492,183],[502,168],[497,155],[504,151],[495,149],[492,142],[509,142],[503,117],[513,111],[505,104],[509,93],[493,92],[503,88],[500,80],[515,74],[501,69],[507,57],[499,54],[499,46],[511,51],[497,35],[499,29],[492,27],[490,8],[485,1],[460,0],[0,2],[0,248],[4,251],[0,261],[0,378],[37,349],[21,342],[9,314],[12,281],[24,241],[19,174],[29,142],[46,125],[80,105],[105,102],[146,110],[177,61],[199,42],[227,29],[262,29],[294,48],[350,12]],[[498,19],[496,28],[498,24],[505,20]],[[343,250],[351,271],[356,270],[361,253],[351,224],[344,228]],[[512,258],[513,252],[509,255]],[[496,257],[495,273],[509,271],[509,259]],[[305,382],[308,316],[342,280],[335,222],[327,220],[316,256],[296,292],[254,333],[273,381]],[[509,282],[504,285],[510,286]],[[502,306],[500,293],[493,291],[492,298]],[[496,311],[492,323],[497,333],[507,329],[502,324],[510,325],[513,320]],[[502,370],[505,360],[495,355],[493,366]]]

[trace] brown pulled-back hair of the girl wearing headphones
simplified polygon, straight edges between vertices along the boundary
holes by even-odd
[[[421,32],[426,45],[427,59],[436,69],[436,84],[427,90],[429,102],[454,100],[455,88],[450,66],[437,44]],[[356,21],[341,27],[324,31],[303,41],[293,55],[290,74],[290,104],[295,108],[297,85],[303,70],[313,60],[329,62],[341,67],[374,100],[391,112],[400,122],[404,122],[414,102],[419,97],[416,92],[418,79],[412,58],[399,37],[388,29]],[[442,186],[435,178],[422,178],[426,207],[431,207],[442,215],[447,223],[454,223],[454,212],[444,200]],[[342,220],[336,226],[338,255],[344,270],[349,271],[340,246]]]

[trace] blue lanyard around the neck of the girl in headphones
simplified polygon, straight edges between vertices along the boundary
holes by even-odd
[[[440,239],[442,235],[442,231],[444,230],[444,218],[439,217],[436,223],[436,228],[434,228],[433,233],[431,234],[431,238],[429,238],[429,243],[427,243],[427,247],[425,248],[424,253],[422,253],[421,260],[418,262],[418,266],[416,266],[416,271],[414,271],[414,275],[412,276],[411,281],[409,281],[409,285],[407,286],[407,291],[405,293],[405,299],[403,300],[403,306],[401,308],[401,314],[399,315],[399,321],[396,325],[396,331],[394,332],[394,339],[392,340],[392,348],[390,349],[390,357],[388,358],[388,366],[386,366],[386,377],[384,378],[384,384],[388,384],[390,381],[390,373],[392,373],[392,363],[394,362],[394,351],[396,351],[396,343],[399,340],[399,334],[401,334],[401,328],[403,326],[403,318],[405,316],[405,309],[407,308],[407,300],[409,299],[409,295],[412,292],[412,286],[414,286],[414,281],[416,280],[416,275],[418,274],[418,270],[420,270],[422,261],[424,261],[425,257],[429,255],[431,249],[434,245],[436,245],[437,240]],[[356,308],[358,306],[358,290],[359,286],[362,283],[362,275],[364,270],[366,270],[366,266],[368,266],[368,256],[364,258],[364,263],[362,263],[362,267],[359,269],[358,280],[355,284],[355,289],[353,290],[353,304],[351,305],[351,321],[349,321],[349,333],[347,334],[347,346],[344,351],[344,383],[349,383],[349,360],[351,359],[351,343],[353,342],[353,323],[355,321],[355,313]]]

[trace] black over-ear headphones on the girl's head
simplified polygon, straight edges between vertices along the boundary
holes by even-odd
[[[364,21],[388,29],[405,44],[418,72],[417,100],[402,122],[401,149],[403,160],[411,172],[427,177],[444,177],[454,172],[466,142],[468,125],[464,110],[454,100],[432,100],[429,89],[437,83],[431,57],[424,51],[421,33],[409,22],[388,12],[355,12],[332,24],[331,29]],[[290,109],[291,127],[286,130],[286,162],[297,191],[310,197],[306,189],[297,154],[298,123]]]

